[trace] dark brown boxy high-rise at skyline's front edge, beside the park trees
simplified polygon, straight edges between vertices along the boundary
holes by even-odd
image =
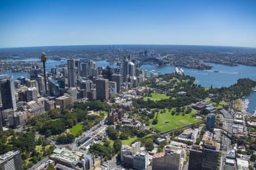
[[[109,80],[108,79],[96,80],[96,99],[109,100]]]

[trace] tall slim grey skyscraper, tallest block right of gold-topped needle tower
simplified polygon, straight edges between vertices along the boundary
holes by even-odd
[[[75,59],[68,59],[68,87],[76,87]]]

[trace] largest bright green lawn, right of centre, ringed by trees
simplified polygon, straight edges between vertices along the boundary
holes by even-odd
[[[188,124],[195,124],[196,122],[200,121],[198,118],[191,117],[195,113],[195,109],[192,109],[191,113],[185,114],[184,116],[182,116],[182,114],[172,116],[171,112],[168,112],[167,110],[166,113],[158,113],[158,124],[152,125],[152,119],[150,126],[155,128],[156,130],[163,132],[175,128],[180,128],[181,126],[185,126]],[[165,121],[169,122],[165,123]]]

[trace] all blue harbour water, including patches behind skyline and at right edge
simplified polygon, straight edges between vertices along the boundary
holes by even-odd
[[[19,61],[19,60],[15,60]],[[40,62],[40,58],[30,58],[23,59],[21,61],[27,62]],[[10,60],[11,62],[11,60]],[[109,65],[109,62],[106,60],[95,61],[97,67],[106,67]],[[40,62],[41,63],[41,62]],[[57,61],[48,59],[46,63],[46,70],[51,70],[55,65],[63,65],[67,63],[67,61]],[[232,84],[235,84],[240,78],[250,78],[256,81],[256,67],[253,66],[225,66],[215,63],[207,63],[208,65],[213,66],[212,70],[197,70],[197,69],[188,69],[185,67],[178,67],[179,69],[183,69],[185,75],[195,76],[196,83],[200,84],[204,87],[228,87]],[[116,65],[111,65],[116,67]],[[141,69],[147,70],[148,75],[150,75],[150,71],[155,70],[155,73],[160,72],[161,74],[172,73],[175,70],[175,66],[164,66],[159,67],[155,65],[142,65]],[[13,75],[14,79],[19,76],[28,77],[28,73],[11,73],[11,72],[0,72],[0,74],[8,74]],[[245,99],[250,100],[250,104],[248,106],[247,112],[253,113],[256,107],[256,92],[252,93],[249,96],[246,96]],[[245,100],[243,99],[243,100]]]

